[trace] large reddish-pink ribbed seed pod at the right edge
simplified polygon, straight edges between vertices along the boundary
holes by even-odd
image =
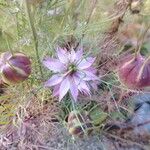
[[[145,58],[127,56],[119,66],[118,75],[123,84],[128,88],[144,88],[150,86],[150,62],[145,63]]]

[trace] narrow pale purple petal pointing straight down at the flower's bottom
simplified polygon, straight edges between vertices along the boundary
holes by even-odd
[[[78,97],[78,86],[77,86],[74,82],[72,82],[72,83],[70,84],[70,92],[71,92],[71,95],[72,95],[74,101],[77,101],[77,97]]]

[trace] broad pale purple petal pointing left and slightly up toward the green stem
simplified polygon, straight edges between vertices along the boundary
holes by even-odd
[[[63,72],[66,67],[63,63],[61,63],[59,60],[54,59],[54,58],[45,58],[43,60],[43,64],[45,67],[47,67],[48,69],[50,69],[53,72]]]

